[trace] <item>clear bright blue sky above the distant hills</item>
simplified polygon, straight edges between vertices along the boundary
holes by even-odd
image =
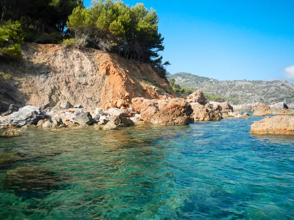
[[[172,74],[294,80],[294,0],[124,1],[137,2],[157,11]]]

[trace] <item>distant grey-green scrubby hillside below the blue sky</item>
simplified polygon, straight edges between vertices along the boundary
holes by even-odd
[[[243,103],[274,104],[283,102],[285,98],[287,103],[294,103],[294,84],[288,81],[220,81],[186,72],[175,73],[167,77],[175,79],[175,83],[182,87],[237,98]]]

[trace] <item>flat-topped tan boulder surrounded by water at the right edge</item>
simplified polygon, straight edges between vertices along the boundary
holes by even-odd
[[[266,117],[251,125],[251,133],[278,133],[294,134],[294,117],[289,115],[277,115]]]

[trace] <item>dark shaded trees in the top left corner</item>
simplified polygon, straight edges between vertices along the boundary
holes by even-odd
[[[57,43],[69,35],[68,16],[82,5],[82,0],[1,0],[0,22],[21,22],[25,41]]]

